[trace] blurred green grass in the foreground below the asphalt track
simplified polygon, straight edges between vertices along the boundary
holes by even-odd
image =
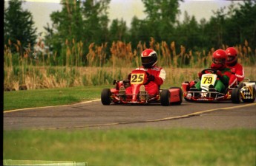
[[[4,131],[3,159],[88,165],[254,166],[256,131],[116,129]]]

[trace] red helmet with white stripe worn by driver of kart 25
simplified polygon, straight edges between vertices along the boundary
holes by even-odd
[[[151,68],[157,64],[157,52],[153,49],[145,49],[141,53],[142,66]]]

